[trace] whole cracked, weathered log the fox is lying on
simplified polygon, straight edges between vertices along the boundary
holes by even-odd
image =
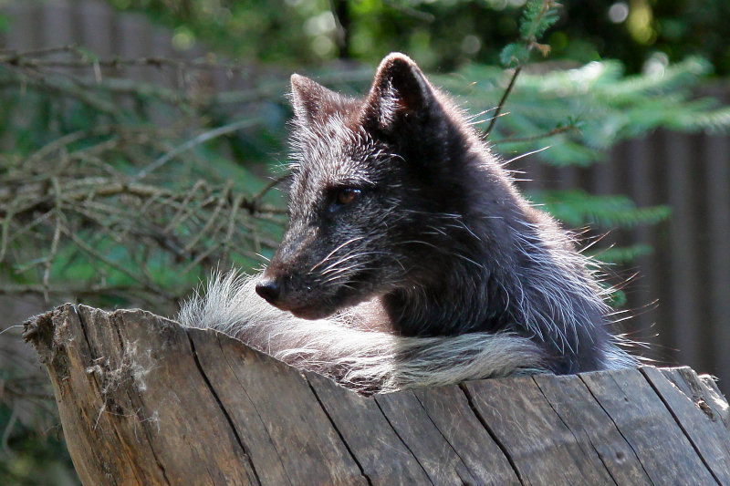
[[[96,484],[730,484],[709,377],[641,367],[362,397],[213,330],[63,305],[26,322]]]

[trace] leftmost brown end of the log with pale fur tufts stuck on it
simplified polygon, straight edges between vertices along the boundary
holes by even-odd
[[[180,326],[65,305],[35,331],[84,484],[255,482],[210,390],[181,381],[199,372]]]

